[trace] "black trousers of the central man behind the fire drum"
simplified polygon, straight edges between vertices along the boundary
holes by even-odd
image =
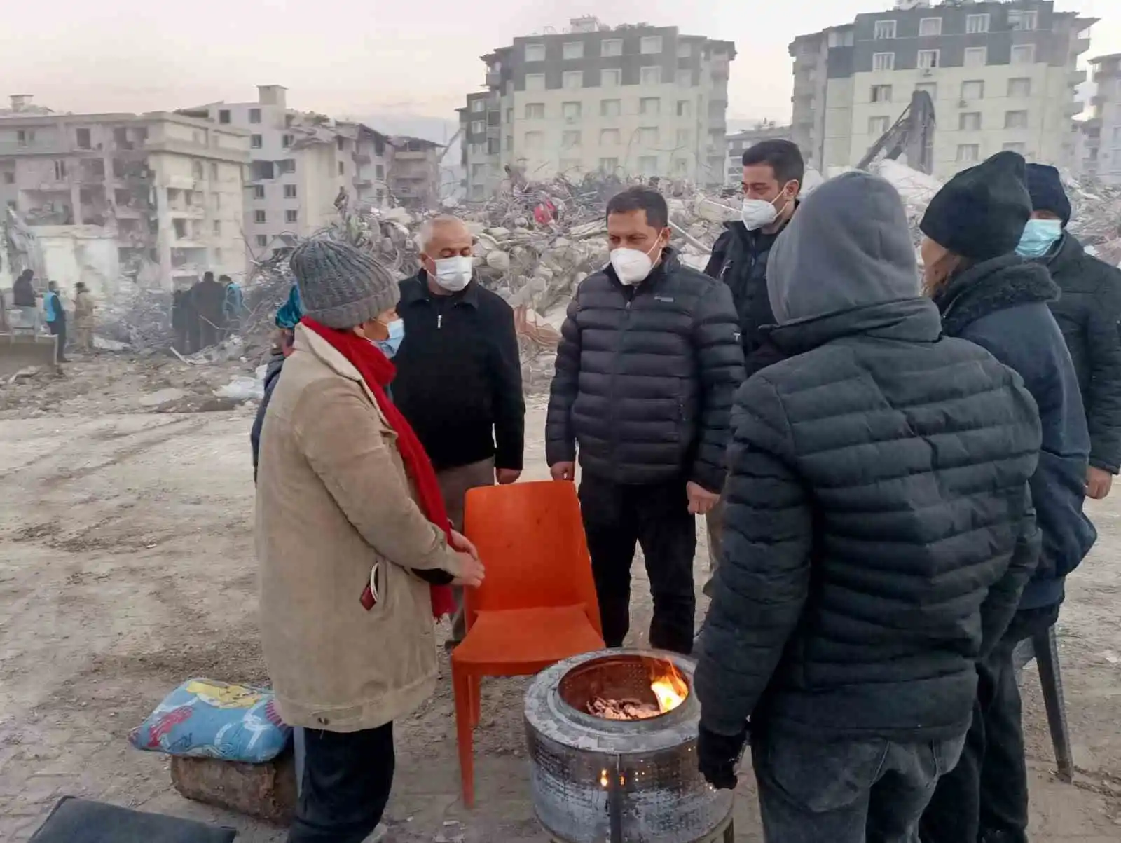
[[[637,543],[646,558],[654,597],[650,646],[689,655],[697,540],[685,480],[622,485],[585,473],[580,483],[580,507],[608,647],[622,647],[630,629],[630,572]]]

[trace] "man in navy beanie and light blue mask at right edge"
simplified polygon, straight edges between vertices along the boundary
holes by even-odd
[[[1062,290],[1051,313],[1066,340],[1090,428],[1086,494],[1101,500],[1121,470],[1121,270],[1086,254],[1066,224],[1071,200],[1058,170],[1027,167],[1031,219],[1017,252],[1047,267]]]

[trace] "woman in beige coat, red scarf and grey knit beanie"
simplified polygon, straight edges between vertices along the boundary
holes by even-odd
[[[305,316],[261,433],[261,632],[280,716],[305,728],[289,843],[360,843],[389,798],[392,721],[436,685],[433,617],[483,569],[386,395],[393,367],[376,343],[397,282],[323,239],[291,269]]]

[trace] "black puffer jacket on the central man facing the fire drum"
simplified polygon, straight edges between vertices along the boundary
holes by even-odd
[[[728,287],[671,249],[642,284],[611,267],[568,306],[545,426],[549,465],[572,462],[617,483],[685,474],[719,492],[728,416],[743,380]]]

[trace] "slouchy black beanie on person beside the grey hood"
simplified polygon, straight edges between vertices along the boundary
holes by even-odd
[[[971,260],[1010,254],[1031,216],[1023,173],[1023,156],[1017,152],[998,152],[962,170],[930,200],[919,229],[938,246]]]

